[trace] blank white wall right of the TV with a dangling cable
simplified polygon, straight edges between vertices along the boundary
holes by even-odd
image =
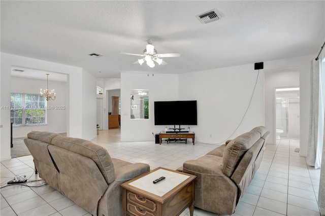
[[[236,130],[247,110],[257,73],[254,64],[246,64],[179,75],[179,99],[198,101],[198,125],[190,126],[198,141],[224,143],[264,125],[261,70],[249,109]]]

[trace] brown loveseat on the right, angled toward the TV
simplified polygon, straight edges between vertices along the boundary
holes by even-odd
[[[232,214],[262,162],[270,132],[253,128],[206,155],[183,163],[178,170],[198,177],[194,206],[219,214]]]

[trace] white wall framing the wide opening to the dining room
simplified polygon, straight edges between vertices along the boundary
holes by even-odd
[[[11,90],[11,67],[20,66],[32,69],[38,69],[43,71],[52,71],[54,73],[61,73],[68,75],[68,95],[67,95],[67,135],[71,137],[78,137],[84,139],[92,139],[96,136],[95,127],[90,122],[89,124],[82,124],[83,117],[90,113],[96,113],[96,103],[90,105],[86,112],[82,112],[84,108],[83,103],[87,103],[92,100],[88,100],[91,95],[83,95],[83,85],[88,83],[87,87],[95,92],[96,83],[92,75],[87,71],[82,70],[80,67],[59,64],[55,62],[43,61],[34,58],[27,58],[23,56],[12,55],[8,53],[1,53],[1,98],[0,107],[10,105],[10,90]],[[83,80],[84,79],[84,80]],[[94,97],[95,101],[95,97]],[[87,104],[88,105],[88,104]],[[86,104],[85,104],[86,106]],[[0,160],[10,159],[10,110],[0,110],[1,123],[3,125],[0,128],[0,148],[1,158]],[[95,119],[93,120],[96,121]],[[84,128],[83,128],[84,127]]]

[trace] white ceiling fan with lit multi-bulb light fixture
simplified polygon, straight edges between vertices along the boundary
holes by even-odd
[[[142,65],[144,62],[146,62],[149,67],[154,67],[155,66],[154,62],[157,62],[159,65],[167,64],[167,62],[161,58],[181,56],[180,53],[157,53],[157,50],[154,49],[152,42],[153,40],[151,39],[147,41],[148,44],[146,45],[146,49],[143,50],[143,54],[134,54],[134,53],[121,53],[121,54],[141,56],[142,58],[138,59],[138,61],[134,62],[134,64],[139,63],[140,65]]]

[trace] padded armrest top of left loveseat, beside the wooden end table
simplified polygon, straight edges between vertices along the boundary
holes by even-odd
[[[129,164],[115,170],[115,175],[116,175],[115,181],[125,182],[129,179],[133,179],[148,171],[150,171],[149,164],[145,164],[145,163]]]

